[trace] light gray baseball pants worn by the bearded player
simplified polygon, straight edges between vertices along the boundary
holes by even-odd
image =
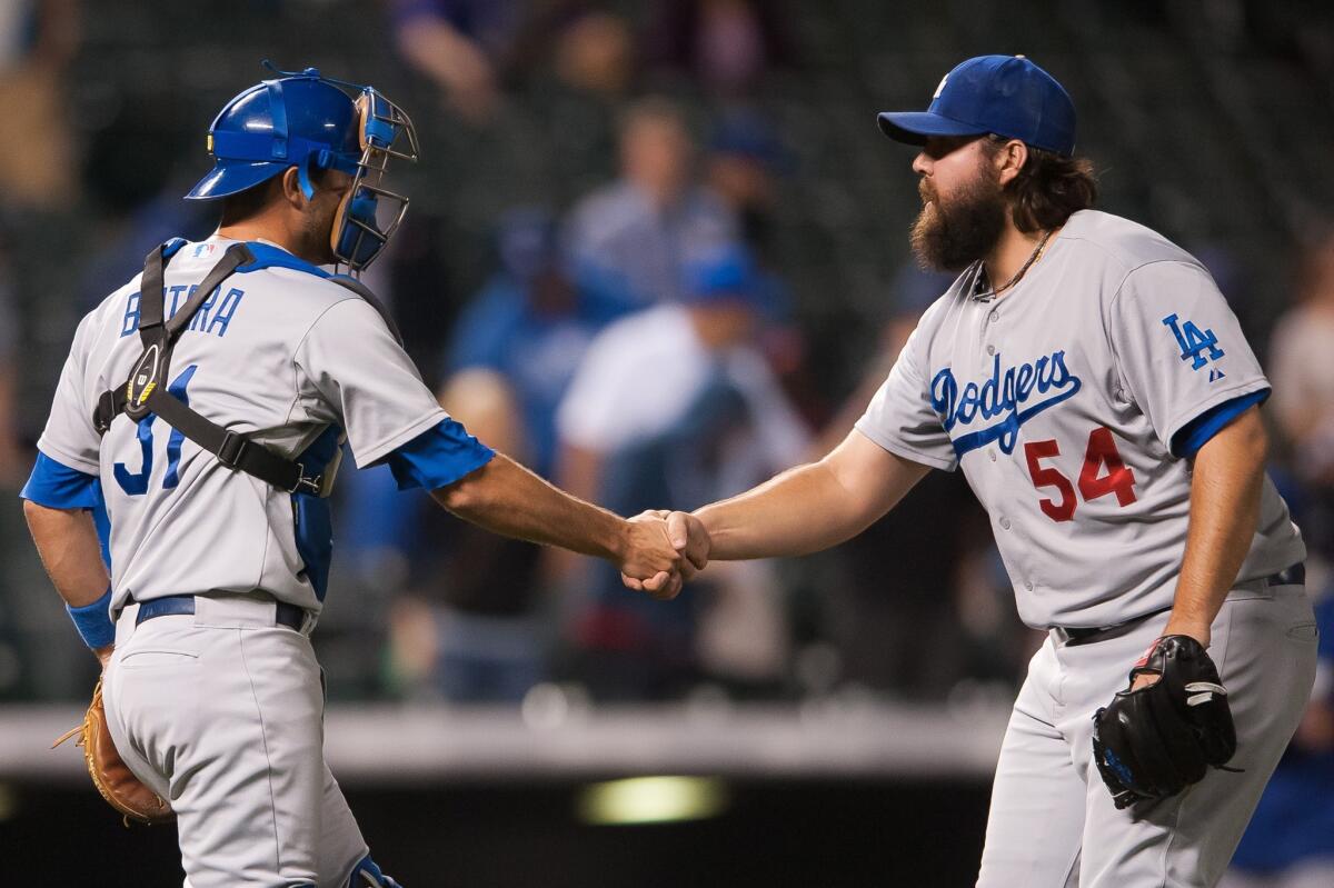
[[[1083,643],[1053,629],[1029,664],[996,764],[978,888],[1214,888],[1291,739],[1315,676],[1301,585],[1233,589],[1213,624],[1237,723],[1230,767],[1118,811],[1093,760],[1093,715],[1162,633],[1167,613]]]

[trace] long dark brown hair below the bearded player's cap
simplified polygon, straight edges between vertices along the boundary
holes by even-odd
[[[988,156],[995,156],[1007,141],[1005,136],[988,135]],[[1073,213],[1093,207],[1098,200],[1098,181],[1087,157],[1062,157],[1029,145],[1029,159],[1005,193],[1014,227],[1029,233],[1059,228]]]

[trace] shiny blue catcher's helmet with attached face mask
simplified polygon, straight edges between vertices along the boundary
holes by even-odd
[[[390,157],[418,159],[416,131],[374,87],[323,77],[315,68],[276,73],[281,76],[241,92],[213,119],[208,128],[213,168],[185,199],[228,197],[289,167],[296,167],[309,199],[313,169],[346,172],[352,187],[329,240],[335,259],[358,272],[380,253],[407,212],[408,199],[382,183]],[[356,99],[348,88],[359,92]]]

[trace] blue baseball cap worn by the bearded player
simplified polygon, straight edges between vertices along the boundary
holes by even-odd
[[[880,131],[922,145],[927,136],[994,132],[1069,157],[1075,149],[1075,105],[1055,77],[1023,56],[978,56],[944,75],[926,111],[886,111]]]

